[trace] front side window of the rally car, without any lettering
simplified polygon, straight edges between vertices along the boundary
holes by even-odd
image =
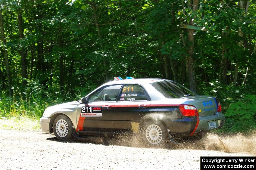
[[[112,85],[98,89],[89,96],[88,102],[116,101],[121,87],[122,85]]]

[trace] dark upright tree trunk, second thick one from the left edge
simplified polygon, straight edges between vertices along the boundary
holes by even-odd
[[[17,11],[18,13],[18,27],[19,27],[19,37],[20,40],[24,38],[23,34],[23,26],[22,26],[22,15],[20,14],[20,11]],[[27,56],[24,50],[24,46],[20,48],[20,58],[21,58],[21,76],[22,76],[22,85],[26,86],[27,85]]]

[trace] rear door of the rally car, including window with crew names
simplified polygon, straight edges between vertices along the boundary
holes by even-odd
[[[124,84],[115,104],[113,116],[114,128],[117,131],[135,130],[143,116],[149,113],[150,97],[138,84]]]

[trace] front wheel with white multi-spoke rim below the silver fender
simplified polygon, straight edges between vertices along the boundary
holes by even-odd
[[[72,137],[72,122],[65,115],[57,116],[53,122],[53,132],[58,140],[66,141],[70,139]]]

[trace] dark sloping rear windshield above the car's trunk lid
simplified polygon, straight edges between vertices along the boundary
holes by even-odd
[[[194,92],[173,81],[155,82],[151,85],[166,98],[196,96]]]

